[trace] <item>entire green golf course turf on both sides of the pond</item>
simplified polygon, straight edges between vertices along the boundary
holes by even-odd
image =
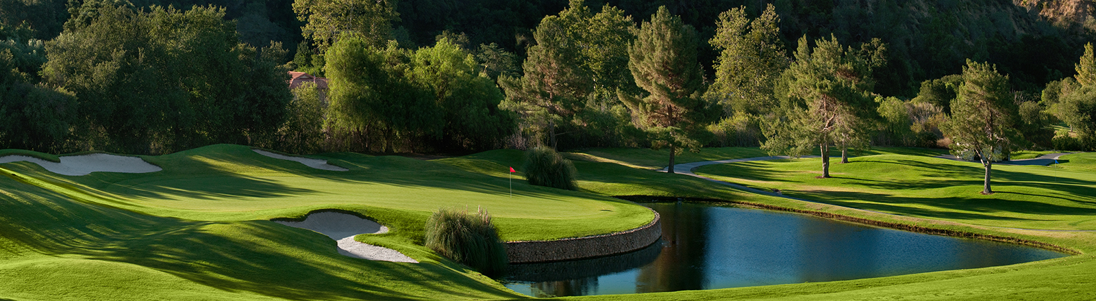
[[[627,195],[719,199],[1002,235],[1083,255],[848,281],[573,299],[1096,299],[1091,255],[1096,232],[1009,229],[1096,230],[1096,157],[1066,155],[1068,163],[1054,166],[995,165],[994,189],[1001,193],[981,196],[981,165],[932,158],[939,153],[879,149],[848,164],[834,161],[831,172],[838,178],[829,180],[812,177],[821,165],[818,159],[696,170],[819,202],[655,172],[669,155],[644,149],[566,153],[579,171],[579,192],[529,186],[517,173],[513,197],[507,166],[522,166],[523,152],[516,150],[433,161],[310,155],[347,172],[316,170],[228,144],[142,157],[163,169],[148,174],[64,176],[28,162],[5,163],[0,165],[0,299],[523,299],[423,247],[422,227],[431,211],[482,206],[504,240],[552,240],[649,222],[646,208],[607,197]],[[678,157],[678,163],[763,155],[756,148],[705,149]],[[356,239],[400,251],[420,264],[345,257],[322,234],[269,221],[321,209],[353,211],[389,227],[389,233]]]

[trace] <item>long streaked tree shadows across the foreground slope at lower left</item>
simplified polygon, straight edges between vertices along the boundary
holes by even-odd
[[[398,264],[351,258],[339,255],[335,242],[322,234],[270,221],[144,216],[75,201],[5,176],[0,176],[0,239],[44,254],[128,263],[227,292],[293,300],[518,297],[458,274],[453,269],[464,268],[444,259]],[[399,282],[404,285],[395,285]]]

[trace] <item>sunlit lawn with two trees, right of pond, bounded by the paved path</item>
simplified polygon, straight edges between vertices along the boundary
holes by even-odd
[[[1096,230],[1096,174],[1048,166],[993,166],[993,190],[981,195],[980,163],[878,154],[832,164],[818,159],[707,165],[697,174],[785,195],[903,216],[979,225]]]

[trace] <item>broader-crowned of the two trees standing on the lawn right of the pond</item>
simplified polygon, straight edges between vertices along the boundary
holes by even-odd
[[[859,50],[842,47],[833,36],[819,39],[811,49],[799,39],[796,61],[783,74],[787,97],[779,106],[780,119],[766,123],[770,153],[799,157],[818,146],[822,154],[821,178],[830,177],[830,144],[842,149],[866,144],[877,104],[870,95],[871,70],[882,65],[878,40]]]

